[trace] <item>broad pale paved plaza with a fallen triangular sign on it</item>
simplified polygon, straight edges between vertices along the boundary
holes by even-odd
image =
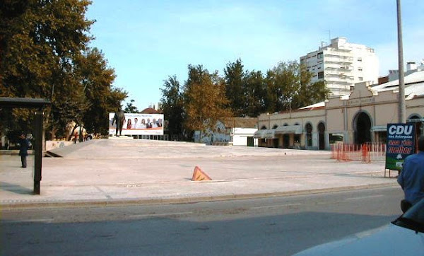
[[[338,162],[329,151],[95,139],[52,153],[61,157],[42,159],[40,195],[32,194],[32,156],[28,168],[20,168],[19,156],[0,155],[1,209],[204,202],[397,185],[383,178],[384,161]],[[192,182],[196,165],[213,180]]]

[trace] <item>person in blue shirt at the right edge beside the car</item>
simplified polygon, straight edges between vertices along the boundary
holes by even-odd
[[[397,181],[404,190],[401,209],[405,212],[424,198],[424,135],[418,139],[418,153],[405,158]]]

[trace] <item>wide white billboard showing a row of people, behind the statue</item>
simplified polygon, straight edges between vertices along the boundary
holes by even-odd
[[[112,125],[114,113],[109,113],[109,134],[114,135],[116,122]],[[125,113],[122,135],[163,135],[162,114]]]

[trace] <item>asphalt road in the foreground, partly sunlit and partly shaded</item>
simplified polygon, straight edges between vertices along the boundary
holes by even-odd
[[[1,211],[1,255],[291,255],[401,214],[399,187],[295,197]],[[379,245],[381,246],[381,245]]]

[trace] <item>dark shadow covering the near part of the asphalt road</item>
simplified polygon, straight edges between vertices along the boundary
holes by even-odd
[[[69,217],[67,221],[75,221],[70,223],[2,219],[5,255],[292,255],[396,219],[313,211],[219,221],[201,221],[200,215],[191,220],[126,219],[122,214],[107,221],[92,219],[89,212],[75,216]]]

